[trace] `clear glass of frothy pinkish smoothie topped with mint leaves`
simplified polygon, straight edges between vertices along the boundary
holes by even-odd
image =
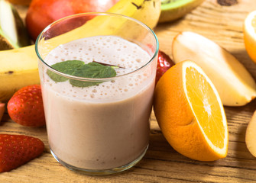
[[[68,169],[121,172],[147,151],[154,32],[120,14],[75,14],[36,41],[50,152]]]

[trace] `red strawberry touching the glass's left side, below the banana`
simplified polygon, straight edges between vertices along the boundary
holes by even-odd
[[[16,123],[28,127],[45,125],[41,85],[28,85],[16,92],[7,104],[8,114]]]

